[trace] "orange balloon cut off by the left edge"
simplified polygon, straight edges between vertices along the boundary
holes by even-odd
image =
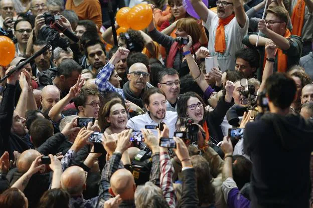
[[[15,45],[13,41],[6,36],[0,36],[0,65],[8,66],[14,57]]]

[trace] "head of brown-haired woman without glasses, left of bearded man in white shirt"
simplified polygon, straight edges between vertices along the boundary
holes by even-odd
[[[107,102],[100,111],[99,126],[108,134],[124,131],[127,121],[126,106],[119,99],[115,98]]]

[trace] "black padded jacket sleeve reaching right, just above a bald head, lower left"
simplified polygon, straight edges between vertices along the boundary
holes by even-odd
[[[62,133],[56,133],[55,135],[49,137],[42,145],[40,145],[37,150],[44,155],[55,155],[59,153],[58,149],[60,144],[62,144],[62,142],[65,140],[66,137]]]

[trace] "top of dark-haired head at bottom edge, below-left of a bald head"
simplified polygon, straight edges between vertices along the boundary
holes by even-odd
[[[69,207],[70,194],[62,188],[53,188],[41,196],[38,208]]]

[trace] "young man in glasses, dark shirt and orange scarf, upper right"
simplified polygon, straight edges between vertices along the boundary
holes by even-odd
[[[273,42],[277,46],[277,53],[273,59],[266,59],[274,63],[274,72],[286,72],[289,67],[299,64],[302,52],[302,40],[298,36],[290,34],[286,28],[289,21],[288,12],[282,7],[274,7],[267,10],[265,20],[261,20],[258,25],[260,38],[258,50],[260,52],[260,68],[257,71],[257,78],[261,81],[265,56],[265,44]],[[257,34],[249,34],[243,39],[243,43],[248,47],[255,47]]]

